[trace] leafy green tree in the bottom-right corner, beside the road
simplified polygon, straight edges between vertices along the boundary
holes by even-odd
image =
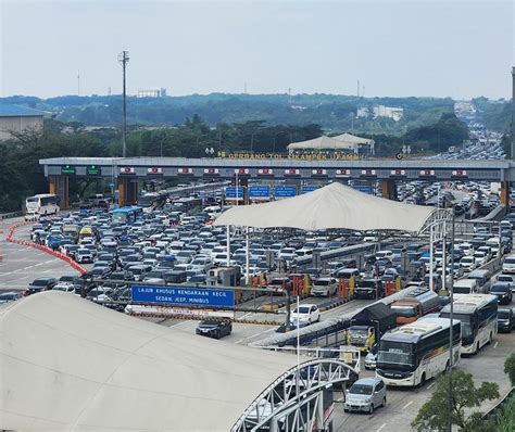
[[[476,387],[470,373],[461,370],[444,373],[437,379],[431,398],[423,405],[412,422],[417,431],[447,430],[449,422],[449,377],[452,377],[451,422],[464,431],[473,431],[480,416],[475,412],[467,417],[466,408],[478,407],[483,401],[499,397],[499,385],[495,383],[483,382],[479,387]]]

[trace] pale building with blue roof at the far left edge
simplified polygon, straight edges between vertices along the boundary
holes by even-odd
[[[16,138],[20,134],[42,134],[43,111],[0,103],[0,141]]]

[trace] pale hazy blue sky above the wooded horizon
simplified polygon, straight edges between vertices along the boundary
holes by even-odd
[[[0,97],[512,94],[513,0],[0,0]],[[77,76],[80,78],[77,79]]]

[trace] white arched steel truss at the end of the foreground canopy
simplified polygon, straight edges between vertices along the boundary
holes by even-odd
[[[324,422],[323,390],[342,384],[355,373],[337,359],[313,359],[293,367],[261,393],[231,432],[313,431]]]

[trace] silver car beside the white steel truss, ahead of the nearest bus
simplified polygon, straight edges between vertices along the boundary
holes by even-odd
[[[386,385],[379,378],[363,378],[352,384],[346,392],[343,410],[365,411],[373,414],[374,409],[386,406]]]

